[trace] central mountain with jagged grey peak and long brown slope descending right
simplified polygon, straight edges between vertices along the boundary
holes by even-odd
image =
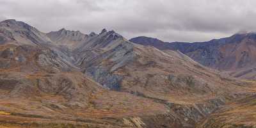
[[[83,72],[103,86],[172,104],[170,115],[182,127],[193,127],[227,99],[247,92],[243,83],[225,79],[180,52],[135,45],[115,31],[102,31],[73,52]]]

